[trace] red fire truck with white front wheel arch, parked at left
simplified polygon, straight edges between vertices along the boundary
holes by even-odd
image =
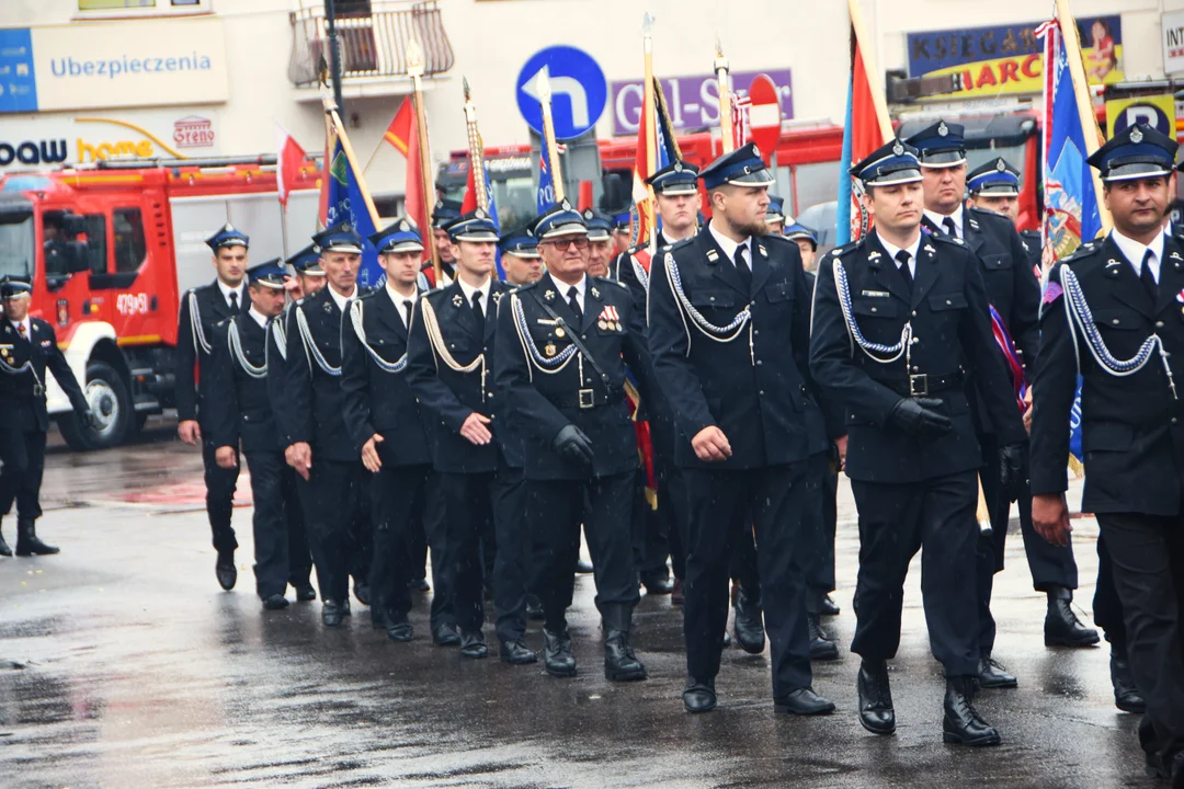
[[[104,162],[0,179],[0,277],[31,277],[31,312],[52,323],[98,427],[75,419],[49,381],[73,448],[114,446],[173,405],[179,295],[213,279],[204,239],[226,222],[256,260],[308,244],[318,172],[309,163],[287,215],[275,157]]]

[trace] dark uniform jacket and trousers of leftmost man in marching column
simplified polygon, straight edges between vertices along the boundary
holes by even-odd
[[[193,308],[197,306],[197,316]],[[239,313],[246,315],[251,299],[243,289]],[[238,465],[223,468],[214,460],[215,446],[211,442],[213,426],[202,412],[208,396],[210,366],[212,362],[206,347],[214,337],[214,326],[236,315],[218,287],[217,280],[194,287],[181,298],[176,332],[176,418],[180,421],[194,419],[201,428],[201,463],[205,466],[206,515],[213,532],[213,545],[218,552],[238,548],[231,516],[234,511],[234,487],[238,484]],[[200,336],[198,331],[200,330]],[[205,339],[205,345],[202,344]],[[197,375],[197,379],[194,377]]]

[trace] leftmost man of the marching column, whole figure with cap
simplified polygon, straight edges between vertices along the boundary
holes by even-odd
[[[231,526],[238,465],[223,468],[214,459],[217,447],[207,435],[211,426],[201,413],[210,393],[210,376],[204,376],[202,380],[201,370],[210,369],[210,343],[214,324],[234,315],[244,315],[250,309],[243,282],[249,242],[246,234],[231,225],[206,239],[206,245],[213,251],[213,266],[218,276],[211,284],[193,287],[185,293],[176,329],[176,433],[191,446],[201,445],[206,515],[213,532],[214,550],[218,551],[214,575],[227,591],[238,581],[238,568],[234,567],[238,541],[234,539],[234,529]]]

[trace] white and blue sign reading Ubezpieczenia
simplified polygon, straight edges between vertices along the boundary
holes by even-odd
[[[0,112],[215,103],[227,91],[215,19],[0,30]]]

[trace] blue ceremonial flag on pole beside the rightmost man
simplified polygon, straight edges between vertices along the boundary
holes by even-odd
[[[1076,25],[1072,27],[1075,30]],[[1041,234],[1045,247],[1051,247],[1054,258],[1060,260],[1073,254],[1083,240],[1095,238],[1103,227],[1093,173],[1086,163],[1090,150],[1087,135],[1093,136],[1093,148],[1096,148],[1101,132],[1092,116],[1088,125],[1082,123],[1077,86],[1057,20],[1041,25],[1036,35],[1044,39],[1044,218]],[[1081,90],[1088,91],[1088,88],[1082,85]],[[1055,283],[1045,286],[1044,300],[1055,300],[1060,287]],[[1077,474],[1083,471],[1082,458],[1079,376],[1069,418],[1069,467]]]

